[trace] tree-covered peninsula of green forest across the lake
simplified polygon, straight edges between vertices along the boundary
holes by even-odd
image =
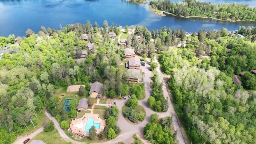
[[[184,17],[209,16],[223,20],[256,20],[256,8],[252,8],[248,4],[211,4],[211,2],[197,0],[184,0],[175,3],[170,0],[152,0],[149,5],[152,8]]]

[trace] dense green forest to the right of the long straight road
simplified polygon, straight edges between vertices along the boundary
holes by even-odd
[[[171,75],[169,88],[175,109],[193,143],[256,142],[256,69],[254,28],[246,38],[238,33],[200,30],[187,37],[186,46],[158,55],[162,70]],[[196,36],[196,37],[195,37]],[[228,50],[230,51],[228,51]],[[233,84],[233,74],[245,72],[243,86]],[[252,90],[251,90],[252,89]]]

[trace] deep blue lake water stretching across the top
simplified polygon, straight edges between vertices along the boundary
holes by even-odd
[[[178,1],[178,0],[176,0]],[[207,0],[205,0],[207,1]],[[211,3],[235,2],[234,0],[211,0]],[[255,7],[256,0],[240,0]],[[229,22],[212,18],[180,18],[176,16],[158,16],[147,4],[133,4],[123,0],[0,0],[0,36],[9,34],[25,36],[28,28],[38,33],[43,25],[59,30],[66,24],[97,22],[102,26],[107,20],[117,26],[146,26],[148,30],[163,26],[184,29],[186,32],[198,32],[200,29],[214,30],[223,27],[237,30],[239,26],[256,26],[255,22]]]

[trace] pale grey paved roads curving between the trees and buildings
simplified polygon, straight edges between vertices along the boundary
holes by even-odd
[[[156,58],[155,58],[155,62],[157,62]],[[161,73],[160,71],[160,67],[158,66],[157,71]],[[146,118],[145,120],[143,120],[140,124],[137,125],[133,125],[128,123],[122,114],[122,106],[124,104],[126,104],[126,100],[114,100],[114,102],[117,102],[116,106],[118,107],[118,109],[120,110],[120,114],[118,116],[118,121],[117,121],[117,125],[120,127],[121,132],[118,135],[118,137],[116,137],[113,140],[110,140],[108,142],[102,142],[102,143],[98,143],[98,144],[115,144],[117,142],[124,142],[125,144],[130,144],[132,142],[134,142],[134,139],[132,138],[132,136],[140,131],[142,131],[144,129],[144,126],[146,126],[146,124],[148,122],[150,122],[150,115],[157,113],[159,115],[159,118],[164,118],[165,116],[171,116],[173,115],[173,120],[174,120],[174,130],[178,130],[178,141],[180,142],[180,144],[185,144],[184,142],[184,138],[182,136],[180,127],[178,125],[178,121],[176,118],[176,114],[174,112],[174,108],[172,107],[172,103],[170,102],[170,98],[169,98],[169,94],[167,92],[166,89],[166,84],[164,83],[163,86],[163,91],[164,91],[164,96],[165,98],[168,97],[168,101],[170,103],[170,107],[168,109],[167,112],[154,112],[152,111],[149,107],[148,107],[148,97],[150,96],[152,90],[150,88],[150,80],[151,80],[151,71],[149,70],[149,62],[146,61],[145,62],[145,66],[142,66],[142,72],[145,73],[144,76],[144,82],[145,82],[145,94],[146,94],[146,98],[144,98],[143,100],[139,100],[139,104],[140,106],[142,106],[145,111],[146,111]],[[54,122],[55,128],[58,130],[58,132],[60,133],[60,136],[66,141],[66,142],[72,142],[73,144],[85,144],[85,142],[78,142],[75,140],[70,139],[65,132],[62,130],[62,128],[60,128],[60,124],[57,122],[57,120],[52,117],[49,112],[45,111],[46,116],[52,120]],[[43,128],[38,129],[36,132],[33,132],[32,134],[35,136],[36,134],[40,133],[41,131],[43,131]],[[34,137],[32,136],[32,134],[28,135],[27,137]],[[18,140],[16,140],[13,144],[20,144],[22,143],[24,140],[26,140],[26,138],[22,141],[22,138],[18,138]]]

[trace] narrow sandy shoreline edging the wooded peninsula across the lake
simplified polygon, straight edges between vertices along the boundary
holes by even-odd
[[[172,14],[172,13],[170,13],[170,12],[166,12],[166,11],[163,11],[163,10],[158,10],[158,9],[156,9],[157,11],[159,11],[159,12],[157,12],[156,10],[154,10],[151,6],[149,6],[148,5],[148,7],[150,8],[150,10],[152,10],[155,14],[157,14],[157,15],[159,15],[159,16],[166,16],[166,15],[172,15],[172,16],[177,16],[176,14]],[[214,17],[210,17],[210,16],[186,16],[186,17],[184,17],[184,16],[177,16],[177,17],[181,17],[181,18],[212,18],[212,19],[214,19],[214,20],[220,20],[220,21],[232,21],[232,22],[256,22],[256,20],[232,20],[232,19],[228,19],[228,20],[223,20],[223,19],[219,19],[219,18],[214,18]]]

